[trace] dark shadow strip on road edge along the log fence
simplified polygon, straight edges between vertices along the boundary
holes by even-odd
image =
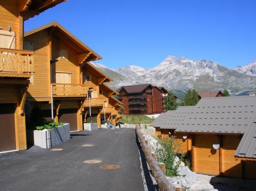
[[[150,170],[148,169],[148,166],[147,166],[147,160],[145,158],[144,152],[142,150],[142,147],[140,145],[140,142],[139,142],[139,139],[138,139],[137,135],[136,135],[136,141],[137,141],[138,149],[139,149],[139,152],[140,152],[141,163],[142,163],[143,173],[144,173],[146,184],[147,184],[147,189],[149,191],[158,191],[158,185],[154,184],[152,179],[151,179]]]

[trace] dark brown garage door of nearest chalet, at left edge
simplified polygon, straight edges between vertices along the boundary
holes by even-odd
[[[15,104],[0,104],[0,152],[16,150]]]

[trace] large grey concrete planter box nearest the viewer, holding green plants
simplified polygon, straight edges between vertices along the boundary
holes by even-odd
[[[55,129],[27,130],[27,142],[41,148],[51,148],[70,139],[69,124]]]

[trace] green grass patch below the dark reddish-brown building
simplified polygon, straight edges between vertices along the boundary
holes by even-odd
[[[151,124],[154,119],[146,115],[121,115],[119,122],[125,124]]]

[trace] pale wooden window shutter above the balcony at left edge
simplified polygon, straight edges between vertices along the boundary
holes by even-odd
[[[15,32],[0,30],[0,48],[16,49]]]

